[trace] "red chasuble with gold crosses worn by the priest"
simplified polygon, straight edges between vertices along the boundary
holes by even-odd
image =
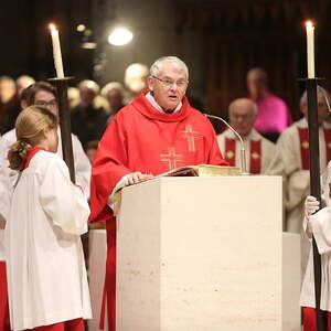
[[[107,200],[116,183],[135,171],[157,175],[183,166],[227,166],[211,122],[190,106],[186,97],[180,111],[163,114],[145,97],[147,93],[114,117],[92,169],[90,222],[107,221],[105,290],[110,331],[115,331],[116,222]]]

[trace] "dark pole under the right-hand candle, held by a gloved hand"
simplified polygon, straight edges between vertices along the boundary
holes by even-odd
[[[308,99],[308,129],[309,129],[309,164],[310,164],[310,193],[321,202],[320,184],[320,143],[319,143],[319,122],[318,122],[318,96],[317,79],[308,78],[307,99]],[[313,249],[313,276],[314,276],[314,296],[318,331],[328,331],[327,314],[320,309],[321,302],[321,256],[314,238],[312,237]]]

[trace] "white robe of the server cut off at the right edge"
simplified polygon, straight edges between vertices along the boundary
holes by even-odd
[[[318,250],[321,254],[322,281],[321,281],[321,305],[320,309],[331,311],[331,162],[321,177],[322,199],[327,207],[318,211],[314,215],[303,218],[303,229],[311,237],[311,232],[317,242]],[[309,222],[309,225],[308,225]],[[301,307],[316,307],[314,300],[314,277],[312,248],[310,248],[307,269],[303,278],[301,297]]]

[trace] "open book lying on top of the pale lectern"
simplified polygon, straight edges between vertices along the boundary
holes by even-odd
[[[211,166],[211,164],[197,164],[185,166],[173,169],[168,172],[163,172],[154,178],[160,177],[216,177],[216,175],[239,175],[241,169],[238,167],[225,167],[225,166]]]

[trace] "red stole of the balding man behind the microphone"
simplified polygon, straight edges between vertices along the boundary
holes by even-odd
[[[225,160],[234,167],[236,161],[236,140],[225,138]],[[260,173],[261,168],[261,140],[250,140],[249,153],[249,172],[253,174]]]

